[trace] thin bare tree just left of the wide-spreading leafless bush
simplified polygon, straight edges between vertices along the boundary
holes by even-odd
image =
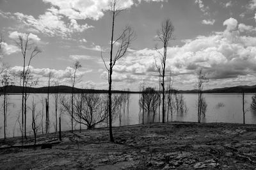
[[[73,133],[73,120],[74,120],[74,86],[76,84],[76,72],[78,68],[81,68],[81,64],[79,61],[76,61],[76,63],[74,63],[73,69],[74,72],[71,73],[71,82],[72,82],[72,97],[71,97],[71,132]]]

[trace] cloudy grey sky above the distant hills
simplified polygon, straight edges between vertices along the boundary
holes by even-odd
[[[173,88],[195,89],[198,69],[209,81],[205,89],[256,84],[256,0],[119,0],[125,9],[115,21],[114,39],[125,26],[136,33],[127,54],[116,62],[113,89],[158,87],[156,62],[163,44],[157,30],[172,20],[175,40],[167,49],[166,80]],[[71,86],[76,61],[77,88],[108,89],[111,15],[109,0],[0,0],[1,62],[10,72],[22,70],[22,53],[15,40],[29,34],[42,52],[31,61],[38,86]],[[118,45],[116,43],[115,45]]]

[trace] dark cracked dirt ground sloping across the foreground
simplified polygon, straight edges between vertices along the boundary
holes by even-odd
[[[0,169],[256,169],[256,125],[154,123],[40,135],[51,149],[1,139]],[[25,145],[32,144],[33,137]],[[7,148],[7,146],[13,146]]]

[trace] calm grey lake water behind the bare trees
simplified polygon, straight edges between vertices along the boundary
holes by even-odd
[[[245,95],[245,108],[248,109],[246,112],[246,123],[256,124],[256,112],[250,110],[250,104],[252,102],[252,94]],[[45,100],[46,94],[31,94],[28,99],[28,107],[31,107],[32,100],[34,98],[36,102],[36,112],[38,113],[38,123],[41,122],[42,116],[42,102],[40,100]],[[138,105],[140,95],[131,94],[129,100],[129,112],[122,114],[121,125],[134,125],[141,123],[140,108]],[[207,102],[207,112],[205,118],[202,119],[203,122],[225,122],[225,123],[243,123],[243,111],[242,111],[242,95],[241,94],[204,94],[205,100]],[[197,121],[197,109],[196,109],[196,94],[184,94],[184,99],[188,107],[188,112],[182,115],[173,114],[173,121]],[[50,95],[49,102],[49,114],[50,114],[50,131],[54,132],[55,125],[55,110],[54,110],[54,98]],[[13,135],[20,135],[19,121],[17,118],[20,114],[21,108],[21,95],[9,95],[8,101],[10,106],[8,107],[7,116],[7,135],[12,137]],[[1,104],[3,104],[3,98],[0,98]],[[216,107],[218,103],[223,103],[223,107]],[[44,105],[45,107],[45,105]],[[32,135],[31,131],[31,109],[28,108],[27,116],[27,133]],[[1,107],[0,115],[0,137],[3,137],[3,108]],[[45,108],[44,108],[45,114]],[[20,116],[21,119],[21,116]],[[156,115],[156,120],[158,120],[158,115]],[[171,118],[170,118],[171,120]],[[21,123],[21,121],[20,121]],[[45,115],[43,118],[43,123],[45,123]],[[119,118],[113,123],[114,126],[119,126]],[[82,128],[86,128],[82,126]],[[66,114],[61,116],[61,129],[70,130],[71,121],[70,117]],[[79,125],[75,126],[75,129],[79,129]],[[39,128],[39,134],[42,128]]]

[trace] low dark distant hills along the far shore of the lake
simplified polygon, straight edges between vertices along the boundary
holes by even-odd
[[[22,93],[21,86],[8,86],[6,88],[7,93]],[[48,87],[41,88],[27,88],[28,93],[47,93]],[[256,93],[255,86],[235,86],[227,88],[207,89],[204,93]],[[3,92],[3,87],[0,88],[0,93]],[[51,86],[49,93],[72,93],[72,87],[70,86]],[[108,93],[106,89],[79,89],[74,88],[74,93]],[[112,93],[140,93],[138,91],[120,91],[113,90]],[[192,90],[178,90],[177,93],[197,93],[197,89]]]

